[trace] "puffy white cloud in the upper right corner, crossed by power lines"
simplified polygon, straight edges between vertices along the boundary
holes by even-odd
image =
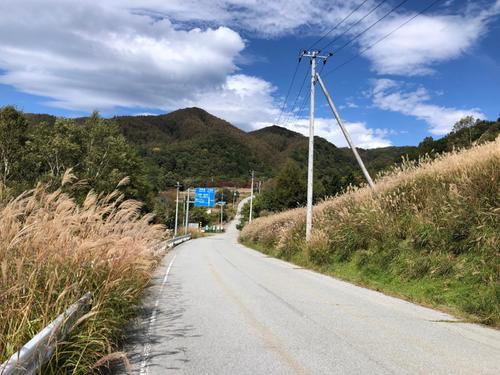
[[[386,40],[366,51],[379,74],[425,75],[436,63],[455,59],[477,43],[493,17],[500,13],[500,0],[478,11],[467,9],[463,15],[421,15]],[[366,48],[398,27],[412,14],[397,14],[361,38]]]

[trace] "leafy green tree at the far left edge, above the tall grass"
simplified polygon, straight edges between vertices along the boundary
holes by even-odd
[[[0,178],[4,186],[22,170],[28,124],[12,106],[0,109]]]

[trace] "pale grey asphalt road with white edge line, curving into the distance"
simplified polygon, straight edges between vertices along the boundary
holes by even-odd
[[[130,337],[141,374],[500,374],[500,331],[267,257],[234,225],[167,255]]]

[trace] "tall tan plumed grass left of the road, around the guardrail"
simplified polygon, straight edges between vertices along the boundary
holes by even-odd
[[[90,192],[79,205],[75,185],[68,172],[56,191],[39,185],[0,202],[0,362],[90,291],[90,313],[44,372],[105,363],[157,262],[152,249],[165,230],[141,216],[139,202],[116,190]]]

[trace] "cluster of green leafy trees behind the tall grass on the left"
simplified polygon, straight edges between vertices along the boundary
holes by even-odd
[[[28,126],[14,107],[0,108],[0,181],[5,193],[16,195],[38,182],[57,189],[69,168],[85,181],[78,191],[80,200],[90,189],[110,193],[130,176],[127,197],[151,201],[144,164],[115,124],[94,113],[80,122],[58,118],[53,124]]]

